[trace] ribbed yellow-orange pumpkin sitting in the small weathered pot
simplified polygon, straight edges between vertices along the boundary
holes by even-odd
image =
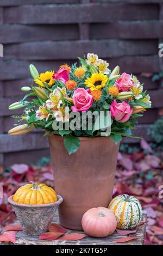
[[[52,187],[45,184],[36,184],[34,181],[16,191],[13,201],[18,204],[50,204],[57,202],[57,193]]]

